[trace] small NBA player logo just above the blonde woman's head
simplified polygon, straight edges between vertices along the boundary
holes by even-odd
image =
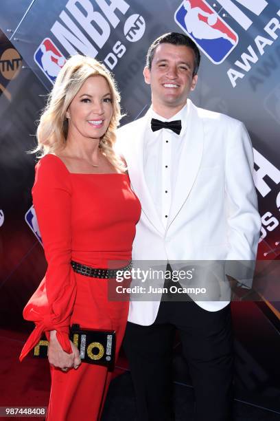
[[[47,78],[54,83],[61,67],[65,64],[58,47],[49,38],[45,38],[34,53],[34,61],[45,73]]]

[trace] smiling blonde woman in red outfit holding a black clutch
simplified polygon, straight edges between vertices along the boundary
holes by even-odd
[[[112,76],[94,58],[76,55],[58,74],[38,125],[32,196],[48,267],[23,312],[36,329],[20,358],[46,332],[49,421],[99,419],[110,381],[106,367],[80,364],[69,326],[115,330],[116,355],[124,336],[128,302],[108,301],[112,280],[71,266],[112,268],[121,261],[113,267],[123,268],[131,259],[140,204],[113,151],[120,117]]]

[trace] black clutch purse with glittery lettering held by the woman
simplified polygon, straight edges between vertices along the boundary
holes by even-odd
[[[108,371],[115,367],[116,333],[115,330],[81,329],[72,325],[70,340],[79,349],[82,363],[104,365]],[[34,347],[35,358],[46,358],[49,342],[45,335]]]

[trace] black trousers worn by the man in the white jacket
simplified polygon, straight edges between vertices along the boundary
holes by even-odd
[[[196,421],[231,420],[233,341],[230,305],[208,312],[194,301],[161,301],[150,326],[129,323],[124,338],[138,421],[174,420],[172,349],[178,330],[196,398]],[[186,420],[187,421],[187,420]]]

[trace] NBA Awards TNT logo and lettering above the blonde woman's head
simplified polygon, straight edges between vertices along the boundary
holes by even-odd
[[[140,14],[128,16],[130,5],[124,0],[69,0],[65,9],[60,12],[58,19],[51,26],[50,32],[56,42],[50,37],[45,38],[34,53],[34,61],[54,83],[56,76],[65,63],[65,56],[60,48],[70,55],[81,52],[86,56],[96,57],[112,70],[124,56],[129,43],[139,41],[145,33],[145,20]],[[122,16],[126,15],[126,20]],[[124,23],[121,39],[114,39],[111,26],[115,29],[119,23]],[[84,34],[82,31],[84,31]],[[118,35],[118,37],[120,37]],[[106,56],[102,57],[103,47],[107,41],[113,44]]]

